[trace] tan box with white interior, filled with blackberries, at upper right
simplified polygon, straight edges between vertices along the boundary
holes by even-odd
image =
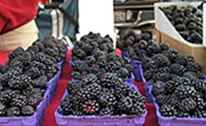
[[[203,11],[201,2],[156,3],[155,30],[159,42],[193,56],[206,71]]]

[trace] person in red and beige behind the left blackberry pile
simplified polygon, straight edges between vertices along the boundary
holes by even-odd
[[[34,19],[40,2],[47,0],[0,0],[0,51],[26,49],[38,39]]]

